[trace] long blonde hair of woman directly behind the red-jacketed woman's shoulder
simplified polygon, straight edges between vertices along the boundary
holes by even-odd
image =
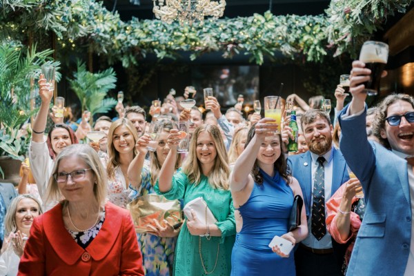
[[[131,132],[131,135],[134,137],[134,145],[138,140],[138,133],[135,129],[135,126],[131,123],[130,120],[121,118],[114,121],[108,130],[108,164],[106,165],[106,172],[108,173],[108,179],[114,179],[115,170],[118,168],[119,164],[119,152],[115,149],[114,146],[114,132],[119,126],[126,126]],[[137,155],[137,149],[134,146],[134,154],[132,158]]]

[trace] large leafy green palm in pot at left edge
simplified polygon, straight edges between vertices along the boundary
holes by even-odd
[[[23,53],[17,43],[0,43],[0,181],[19,181],[20,164],[28,155],[31,135],[30,127],[25,135],[21,127],[36,112],[30,108],[30,79],[39,77],[41,64],[52,52],[36,52],[32,46]],[[53,64],[59,66],[58,62]]]

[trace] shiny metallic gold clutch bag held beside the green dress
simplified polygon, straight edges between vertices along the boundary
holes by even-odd
[[[151,232],[152,229],[148,226],[155,225],[153,219],[163,227],[165,227],[164,219],[174,228],[182,223],[179,201],[168,200],[162,195],[143,195],[131,201],[126,207],[130,210],[137,233]]]

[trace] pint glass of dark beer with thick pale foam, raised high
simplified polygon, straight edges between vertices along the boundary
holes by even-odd
[[[359,53],[359,60],[371,70],[371,79],[364,83],[366,93],[375,96],[380,90],[382,71],[388,60],[388,45],[379,41],[365,41]]]

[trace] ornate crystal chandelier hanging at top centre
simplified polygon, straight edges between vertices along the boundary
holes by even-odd
[[[154,8],[152,11],[157,19],[172,23],[178,20],[184,25],[192,25],[199,21],[200,25],[204,23],[204,17],[213,17],[218,19],[223,16],[226,0],[152,0]],[[158,2],[158,4],[157,4]]]

